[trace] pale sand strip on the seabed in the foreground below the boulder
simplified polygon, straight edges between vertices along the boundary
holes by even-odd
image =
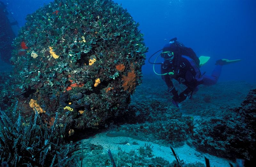
[[[135,150],[137,154],[140,146],[144,146],[145,143],[152,144],[153,146],[153,157],[162,157],[165,160],[172,163],[175,160],[175,157],[172,154],[170,147],[162,146],[152,142],[145,142],[141,140],[136,140],[130,137],[108,137],[107,132],[96,134],[95,136],[82,140],[83,143],[92,143],[95,145],[103,146],[104,151],[107,152],[108,149],[111,150],[112,154],[116,154],[119,149],[125,152],[130,152],[132,149]],[[119,144],[118,144],[119,143]],[[137,143],[137,144],[135,144]],[[194,148],[191,148],[187,144],[174,148],[176,154],[180,160],[184,160],[185,163],[196,163],[201,162],[205,164],[204,157],[208,158],[210,161],[211,167],[230,167],[227,159],[219,158],[205,153],[200,153]]]

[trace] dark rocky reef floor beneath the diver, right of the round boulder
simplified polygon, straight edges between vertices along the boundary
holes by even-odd
[[[201,86],[192,99],[177,108],[170,104],[172,98],[164,82],[159,80],[156,86],[157,78],[143,79],[132,96],[129,115],[118,119],[125,124],[116,127],[116,132],[174,147],[187,143],[198,151],[233,162],[243,159],[245,166],[255,163],[255,86],[233,81]],[[143,94],[148,88],[150,93]]]

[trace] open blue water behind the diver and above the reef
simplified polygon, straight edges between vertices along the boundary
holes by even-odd
[[[27,14],[50,0],[3,0],[20,26]],[[256,82],[256,1],[115,0],[140,23],[147,45],[147,58],[177,37],[197,56],[211,59],[201,71],[210,74],[216,60],[242,59],[222,69],[219,81]],[[159,59],[159,61],[161,61]],[[146,60],[143,74],[152,74]]]

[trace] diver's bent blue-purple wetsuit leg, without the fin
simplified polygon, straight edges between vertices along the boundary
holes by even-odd
[[[204,85],[214,85],[217,83],[220,73],[221,73],[222,65],[216,65],[215,69],[212,71],[212,75],[203,75]]]

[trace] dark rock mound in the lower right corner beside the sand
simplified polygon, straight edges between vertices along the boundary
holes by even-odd
[[[240,107],[223,111],[223,115],[202,121],[191,143],[212,155],[246,160],[245,166],[255,164],[256,148],[256,89],[252,89]]]

